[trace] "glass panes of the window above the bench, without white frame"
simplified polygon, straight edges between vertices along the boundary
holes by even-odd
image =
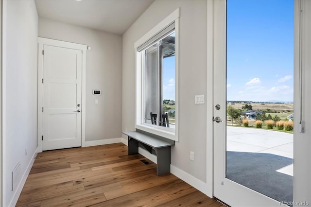
[[[142,51],[144,123],[174,128],[175,33],[169,31]]]

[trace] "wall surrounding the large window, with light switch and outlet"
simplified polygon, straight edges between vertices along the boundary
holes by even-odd
[[[122,131],[135,130],[134,42],[178,7],[180,119],[172,165],[206,182],[207,109],[205,104],[194,104],[194,96],[207,94],[207,0],[155,0],[123,35]],[[190,151],[194,152],[194,161],[190,160]]]

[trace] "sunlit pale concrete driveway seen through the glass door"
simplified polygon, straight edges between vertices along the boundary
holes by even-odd
[[[227,151],[267,153],[293,159],[293,134],[227,126]],[[277,172],[293,176],[293,164]]]

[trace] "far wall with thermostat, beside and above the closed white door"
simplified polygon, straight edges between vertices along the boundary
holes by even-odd
[[[121,35],[41,17],[38,30],[40,37],[91,46],[86,52],[86,141],[121,138]],[[102,95],[92,95],[93,89]]]

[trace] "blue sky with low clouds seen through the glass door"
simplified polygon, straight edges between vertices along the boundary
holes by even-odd
[[[227,0],[227,100],[293,101],[294,0]]]

